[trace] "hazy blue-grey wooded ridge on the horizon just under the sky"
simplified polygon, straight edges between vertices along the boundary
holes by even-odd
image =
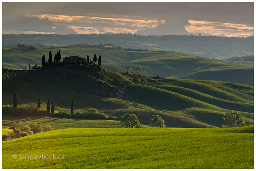
[[[2,43],[88,44],[111,43],[123,48],[171,50],[206,58],[227,59],[253,55],[253,37],[131,34],[3,34]]]

